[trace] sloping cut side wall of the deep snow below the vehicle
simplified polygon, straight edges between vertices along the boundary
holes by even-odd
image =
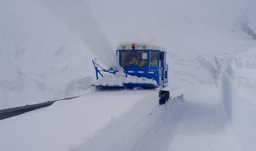
[[[106,127],[99,130],[93,139],[86,141],[74,150],[132,150],[148,130],[152,129],[168,105],[175,105],[183,101],[183,95],[175,96],[175,100],[170,100],[166,105],[158,105],[158,91],[141,99],[125,114],[111,121]]]

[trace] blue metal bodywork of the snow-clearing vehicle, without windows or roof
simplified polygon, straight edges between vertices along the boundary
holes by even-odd
[[[93,85],[96,87],[143,87],[143,88],[154,88],[154,87],[160,87],[164,86],[168,83],[168,65],[166,64],[166,52],[160,51],[160,50],[152,50],[152,49],[141,49],[141,50],[124,50],[124,49],[117,49],[116,55],[118,57],[118,63],[121,66],[121,52],[125,51],[131,51],[131,52],[147,52],[147,65],[145,67],[138,67],[138,66],[124,66],[123,71],[114,70],[113,68],[110,68],[109,70],[105,70],[96,62],[93,62],[93,65],[95,67],[96,71],[96,79],[98,79],[98,74],[100,74],[103,77],[103,74],[101,72],[109,72],[116,74],[117,72],[123,72],[124,74],[129,74],[136,77],[144,77],[148,79],[153,79],[157,82],[157,85],[154,84],[145,84],[145,83],[123,83],[123,86],[103,86],[103,85]],[[158,65],[157,67],[150,67],[150,61],[151,61],[151,52],[157,52],[158,53]],[[99,70],[98,68],[101,68]]]

